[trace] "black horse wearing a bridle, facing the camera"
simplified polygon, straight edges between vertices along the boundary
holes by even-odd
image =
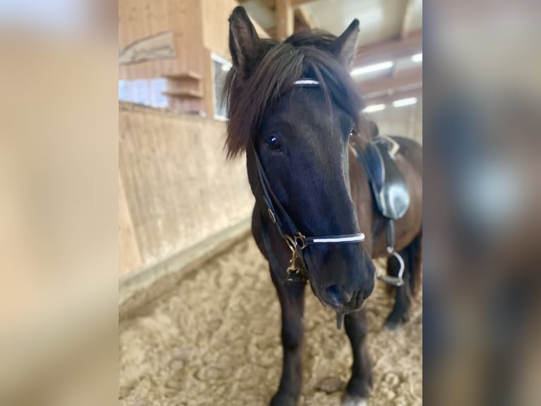
[[[348,74],[358,33],[355,20],[340,37],[311,30],[278,43],[258,37],[244,8],[230,17],[226,148],[229,156],[246,151],[256,197],[252,231],[282,308],[283,375],[271,405],[296,405],[299,398],[307,281],[338,320],[345,315],[353,350],[345,403],[366,402],[371,366],[362,304],[374,289],[372,258],[388,257],[388,272],[398,273],[386,249],[386,221],[352,147],[363,151],[373,132],[359,113],[362,101]],[[395,139],[410,205],[396,221],[406,283],[396,289],[389,327],[407,320],[421,269],[422,149]]]

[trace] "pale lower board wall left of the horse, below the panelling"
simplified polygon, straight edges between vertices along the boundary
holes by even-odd
[[[153,265],[249,218],[246,163],[226,160],[225,122],[131,103],[119,110],[119,199],[126,201],[119,211],[129,211],[119,213],[119,240],[129,236],[131,221],[131,247],[141,257],[126,248],[120,272],[136,262]]]

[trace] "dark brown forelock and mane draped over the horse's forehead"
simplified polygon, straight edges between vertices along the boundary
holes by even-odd
[[[323,30],[307,30],[278,43],[261,40],[261,60],[245,77],[234,66],[227,74],[224,99],[229,122],[225,148],[228,157],[246,149],[258,131],[264,113],[290,91],[295,81],[319,81],[328,103],[338,105],[359,123],[363,104],[357,85],[338,62],[331,46],[335,36]]]

